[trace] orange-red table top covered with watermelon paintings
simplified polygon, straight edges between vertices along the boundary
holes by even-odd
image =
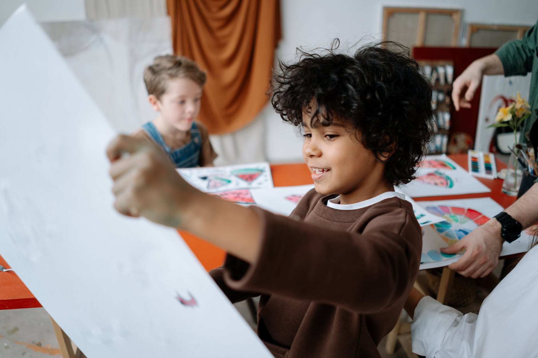
[[[451,155],[450,157],[463,168],[467,168],[466,154]],[[506,168],[506,164],[497,160],[497,168]],[[274,164],[271,165],[271,173],[273,176],[273,183],[275,187],[312,183],[310,172],[306,164],[304,163]],[[489,180],[482,178],[479,178],[479,180],[483,182],[487,187],[489,187],[492,191],[490,193],[479,194],[423,197],[417,198],[416,200],[442,200],[478,198],[489,196],[503,207],[507,207],[515,201],[515,197],[507,196],[501,192],[502,180]],[[181,235],[183,239],[185,239],[187,244],[190,246],[190,248],[193,250],[194,254],[202,262],[204,268],[210,270],[222,264],[224,260],[223,250],[213,245],[210,245],[205,241],[197,239],[196,237],[194,237],[194,235],[191,235],[187,232],[181,232]],[[6,268],[9,268],[8,263],[4,261],[2,256],[0,256],[0,264],[2,264],[2,266]],[[23,282],[19,280],[17,275],[13,274],[13,272],[4,273],[0,271],[0,310],[31,307],[41,307],[41,304],[26,288]]]

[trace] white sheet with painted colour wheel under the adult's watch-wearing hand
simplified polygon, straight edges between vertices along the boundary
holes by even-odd
[[[422,234],[422,259],[420,269],[448,266],[456,262],[463,253],[445,255],[440,252],[441,247],[447,247],[466,234],[483,225],[490,218],[504,210],[491,198],[454,199],[434,202],[418,202],[425,210],[444,221],[424,227]],[[529,249],[532,237],[521,233],[521,237],[512,243],[502,245],[500,255],[511,255],[526,252]]]

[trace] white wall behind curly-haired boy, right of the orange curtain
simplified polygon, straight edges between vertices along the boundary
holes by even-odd
[[[538,17],[536,0],[283,0],[282,40],[277,56],[290,60],[294,58],[295,47],[327,47],[335,37],[350,43],[364,36],[380,39],[384,6],[462,9],[460,45],[463,45],[467,23],[534,25]],[[268,159],[272,162],[302,161],[301,140],[291,126],[282,124],[270,108],[260,117],[266,121]]]

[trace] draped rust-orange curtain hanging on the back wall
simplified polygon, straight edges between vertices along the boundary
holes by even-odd
[[[208,75],[199,119],[211,134],[249,124],[267,103],[279,0],[167,0],[174,52]]]

